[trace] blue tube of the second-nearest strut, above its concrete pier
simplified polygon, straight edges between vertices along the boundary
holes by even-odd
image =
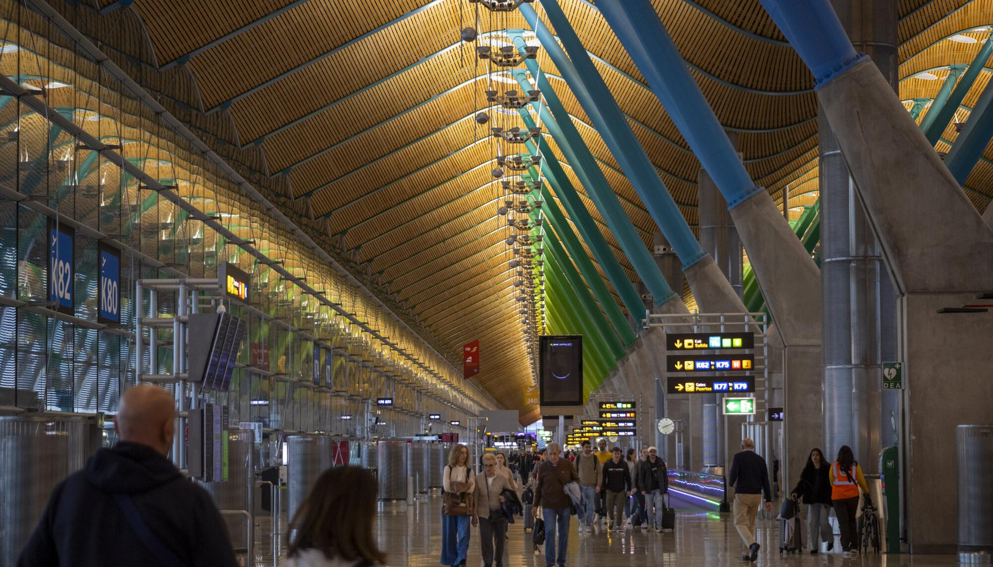
[[[598,6],[693,154],[714,179],[728,208],[764,191],[745,170],[651,3],[606,0]]]

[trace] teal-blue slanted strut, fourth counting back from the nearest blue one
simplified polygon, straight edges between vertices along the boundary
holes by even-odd
[[[531,89],[523,72],[514,73],[514,76],[524,92]],[[621,202],[618,201],[617,193],[614,192],[614,188],[607,181],[604,172],[597,166],[596,159],[583,142],[583,138],[579,135],[579,131],[576,130],[576,126],[569,117],[569,113],[566,112],[565,107],[558,100],[555,91],[551,89],[551,85],[547,84],[547,81],[545,81],[545,84],[545,87],[539,86],[538,88],[542,90],[542,94],[548,102],[547,107],[541,103],[534,102],[531,103],[531,106],[538,111],[538,117],[541,119],[542,124],[551,132],[552,138],[558,142],[559,148],[565,154],[566,160],[572,165],[580,182],[586,187],[586,192],[590,196],[590,199],[593,200],[593,204],[596,205],[597,210],[603,215],[607,226],[611,228],[615,238],[618,239],[621,249],[628,256],[632,266],[635,267],[635,271],[638,272],[641,282],[645,284],[648,292],[651,293],[654,304],[661,305],[665,301],[675,297],[676,293],[665,282],[665,278],[662,277],[662,273],[658,270],[655,260],[648,254],[648,249],[645,248],[644,242],[638,236],[635,225],[632,224],[628,213],[625,212],[624,207],[621,206]],[[549,109],[551,109],[551,113],[549,113]],[[519,112],[525,122],[530,120],[530,116],[523,109],[519,110]]]

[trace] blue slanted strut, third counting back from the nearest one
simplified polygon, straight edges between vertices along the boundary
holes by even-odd
[[[528,4],[520,7],[524,20],[531,25],[542,47],[561,71],[562,76],[583,106],[583,110],[589,115],[593,125],[610,148],[614,159],[628,175],[645,208],[648,209],[658,228],[665,234],[666,240],[679,255],[683,268],[689,268],[703,260],[707,254],[700,248],[696,237],[693,236],[689,225],[686,224],[686,219],[683,218],[679,207],[672,200],[668,189],[665,188],[665,184],[662,183],[651,161],[648,160],[638,138],[618,107],[617,101],[614,100],[600,76],[600,72],[569,26],[565,14],[562,13],[554,0],[545,0],[542,5],[545,7],[549,21],[559,34],[559,38],[573,55],[572,61],[566,57],[558,42],[555,41],[545,25],[537,18],[537,13]],[[573,62],[578,66],[574,66]],[[532,76],[540,74],[536,61],[528,59],[526,63]],[[546,90],[540,83],[538,86],[543,92],[550,90],[550,88]]]

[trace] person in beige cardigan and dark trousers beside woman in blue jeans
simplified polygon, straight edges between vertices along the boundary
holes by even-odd
[[[483,550],[483,565],[497,567],[503,565],[503,540],[506,539],[507,518],[500,504],[505,500],[504,490],[512,490],[506,476],[497,473],[497,457],[491,453],[483,455],[483,472],[476,475],[474,500],[476,511],[473,525],[480,527],[480,547]]]

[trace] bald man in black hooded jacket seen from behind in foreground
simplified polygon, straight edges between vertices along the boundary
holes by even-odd
[[[125,392],[115,420],[120,442],[56,487],[19,567],[235,567],[211,496],[166,459],[173,401],[155,386]]]

